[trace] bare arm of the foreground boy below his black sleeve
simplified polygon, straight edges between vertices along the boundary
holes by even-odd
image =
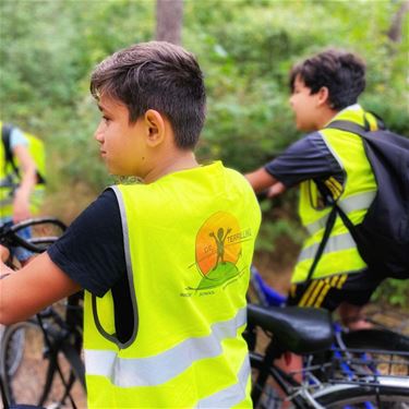
[[[17,272],[0,263],[0,324],[23,321],[47,305],[65,298],[81,286],[63,273],[47,253],[35,257]]]

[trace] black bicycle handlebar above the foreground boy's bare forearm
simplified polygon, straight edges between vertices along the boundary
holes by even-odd
[[[44,252],[45,244],[53,243],[58,239],[58,237],[50,236],[23,239],[17,234],[20,230],[37,225],[53,225],[61,229],[61,231],[64,231],[67,229],[67,225],[56,217],[31,218],[12,226],[1,226],[0,244],[3,244],[5,246],[22,246],[35,253]]]

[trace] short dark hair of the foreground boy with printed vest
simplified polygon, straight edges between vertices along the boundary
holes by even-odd
[[[148,109],[170,121],[179,148],[193,148],[205,120],[206,93],[192,53],[166,41],[133,45],[106,58],[94,70],[91,93],[124,104],[134,123]]]

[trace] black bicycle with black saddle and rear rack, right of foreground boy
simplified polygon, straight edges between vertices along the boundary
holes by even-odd
[[[387,359],[375,360],[358,359],[353,349],[334,348],[330,316],[321,309],[249,304],[248,312],[255,408],[281,407],[277,385],[296,408],[407,408],[409,352],[399,352],[398,360],[387,351],[370,350],[370,353],[387,354]],[[256,327],[274,334],[263,351],[253,344]],[[300,372],[287,373],[275,363],[287,351],[304,358]],[[325,354],[323,363],[315,360],[320,353]],[[405,368],[406,375],[381,372],[383,365]]]

